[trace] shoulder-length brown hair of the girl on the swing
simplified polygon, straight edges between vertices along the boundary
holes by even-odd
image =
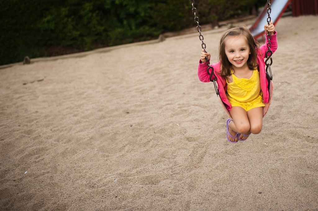
[[[219,56],[218,60],[221,64],[220,75],[221,76],[230,76],[231,75],[231,66],[232,64],[228,60],[225,54],[225,41],[230,36],[243,36],[246,39],[248,47],[251,54],[248,57],[247,65],[250,70],[257,68],[257,51],[259,49],[259,43],[254,40],[251,32],[246,28],[245,25],[240,25],[239,27],[234,27],[227,30],[221,37],[220,46],[219,46]],[[232,69],[233,70],[233,69]],[[233,70],[234,73],[234,70]]]

